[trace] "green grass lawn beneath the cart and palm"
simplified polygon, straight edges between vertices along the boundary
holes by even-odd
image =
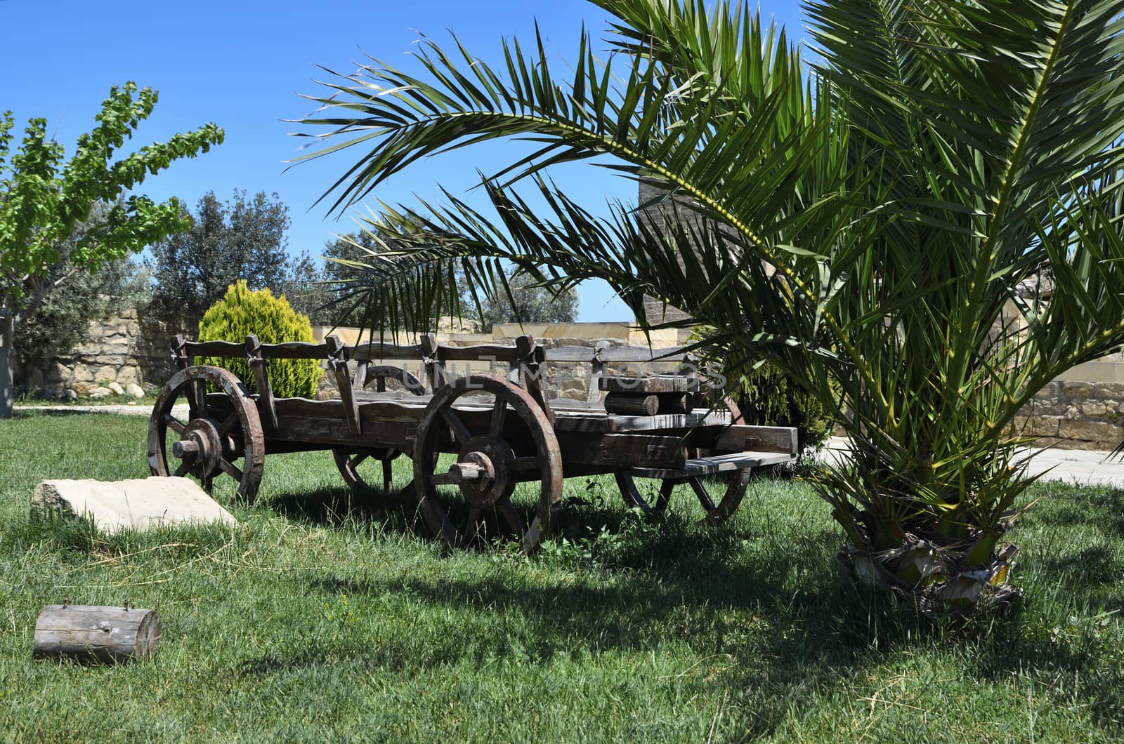
[[[147,474],[143,418],[0,423],[0,738],[1095,741],[1124,735],[1124,493],[1036,487],[1026,600],[932,624],[856,587],[825,506],[755,483],[719,529],[568,481],[531,559],[438,548],[408,495],[353,500],[327,453],[266,460],[236,529],[33,523],[46,478]],[[406,463],[396,471],[408,480]],[[220,500],[225,498],[219,493]],[[151,661],[33,661],[56,602],[151,607]]]

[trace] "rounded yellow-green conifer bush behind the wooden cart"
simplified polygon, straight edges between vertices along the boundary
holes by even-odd
[[[312,325],[307,315],[289,306],[289,300],[273,297],[268,289],[251,291],[246,282],[237,281],[226,290],[226,296],[212,305],[199,321],[199,341],[233,341],[245,343],[255,334],[263,344],[290,341],[312,342]],[[245,359],[217,359],[201,356],[199,364],[229,370],[238,375],[251,392],[256,392],[254,375]],[[316,383],[323,371],[316,360],[269,360],[266,369],[270,384],[278,398],[316,396]]]

